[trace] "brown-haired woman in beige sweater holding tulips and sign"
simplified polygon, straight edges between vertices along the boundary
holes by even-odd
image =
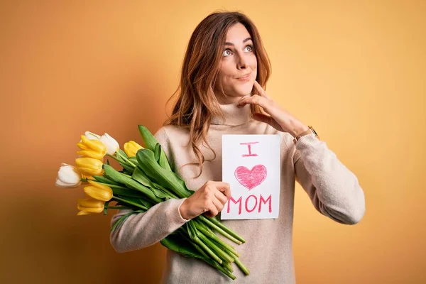
[[[295,283],[292,252],[295,180],[315,208],[343,224],[364,215],[364,192],[315,131],[268,97],[271,74],[258,30],[241,13],[212,13],[197,26],[182,66],[173,114],[155,137],[170,164],[194,195],[167,200],[133,214],[111,233],[119,252],[151,246],[200,214],[217,215],[231,196],[222,180],[223,134],[276,134],[281,137],[278,219],[224,220],[246,239],[240,260],[251,271],[234,269],[236,280],[207,263],[168,250],[165,283]],[[261,111],[263,109],[263,111]],[[111,220],[126,214],[119,212]]]

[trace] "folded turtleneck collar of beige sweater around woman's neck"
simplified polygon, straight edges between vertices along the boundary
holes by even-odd
[[[237,126],[251,120],[250,104],[246,104],[244,107],[237,107],[238,102],[234,102],[231,104],[219,104],[219,106],[222,109],[225,120],[220,116],[213,116],[210,124]]]

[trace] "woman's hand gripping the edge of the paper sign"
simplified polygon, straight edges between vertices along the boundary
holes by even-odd
[[[207,217],[214,217],[222,211],[229,197],[231,188],[228,183],[209,180],[180,205],[180,215],[190,220],[208,212]]]

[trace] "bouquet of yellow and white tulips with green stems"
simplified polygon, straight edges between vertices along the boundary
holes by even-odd
[[[190,197],[185,182],[170,168],[160,143],[146,127],[139,125],[146,148],[135,141],[124,143],[124,151],[119,143],[105,133],[103,136],[87,131],[77,143],[80,151],[75,159],[75,167],[62,163],[58,171],[58,187],[78,187],[87,182],[84,193],[87,198],[78,200],[77,215],[93,213],[107,214],[108,209],[131,209],[112,226],[124,222],[131,214],[146,212],[159,202],[170,198]],[[115,170],[104,156],[117,160],[122,170]],[[115,206],[109,206],[115,201]],[[216,218],[200,215],[186,222],[184,226],[166,236],[160,243],[183,256],[200,258],[222,273],[235,280],[232,262],[249,275],[249,270],[239,261],[239,253],[233,246],[219,239],[215,231],[236,244],[245,240],[219,222]]]

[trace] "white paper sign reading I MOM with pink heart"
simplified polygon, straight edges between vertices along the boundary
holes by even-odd
[[[278,217],[280,141],[278,134],[222,136],[222,180],[232,196],[221,219]]]

